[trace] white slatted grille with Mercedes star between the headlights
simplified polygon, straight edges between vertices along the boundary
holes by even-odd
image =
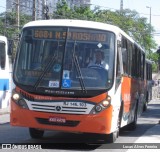
[[[26,101],[30,110],[64,114],[89,114],[95,103],[85,101]]]

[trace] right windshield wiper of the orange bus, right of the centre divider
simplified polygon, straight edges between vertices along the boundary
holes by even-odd
[[[82,89],[82,91],[87,93],[87,90],[85,88],[85,84],[84,84],[84,81],[83,81],[83,77],[82,77],[81,68],[79,66],[79,62],[78,62],[77,56],[75,55],[75,49],[76,49],[76,41],[74,42],[74,49],[72,51],[72,53],[73,53],[73,61],[75,63],[76,70],[77,70],[77,73],[78,73],[78,76],[79,76],[79,82],[80,82],[81,89]]]

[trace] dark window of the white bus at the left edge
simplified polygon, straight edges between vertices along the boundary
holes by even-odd
[[[1,69],[5,69],[5,63],[6,63],[5,44],[0,43],[0,67]]]

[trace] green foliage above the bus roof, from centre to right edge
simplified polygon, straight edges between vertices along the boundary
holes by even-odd
[[[100,10],[97,7],[94,10],[86,6],[69,8],[66,1],[61,0],[57,5],[53,18],[92,20],[116,25],[136,40],[146,51],[147,58],[157,64],[157,54],[152,52],[157,48],[157,44],[151,35],[154,28],[147,23],[147,18],[140,17],[135,10],[125,9],[113,12]]]

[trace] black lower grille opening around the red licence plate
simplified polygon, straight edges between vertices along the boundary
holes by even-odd
[[[49,122],[48,119],[45,118],[36,118],[38,123],[44,125],[55,125],[55,126],[68,126],[68,127],[76,127],[80,121],[67,120],[65,123],[57,123],[57,122]]]

